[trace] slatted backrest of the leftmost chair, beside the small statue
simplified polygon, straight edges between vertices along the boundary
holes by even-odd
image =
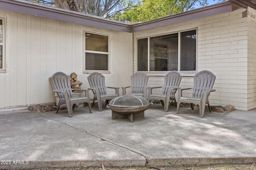
[[[70,76],[64,72],[56,72],[50,77],[50,80],[54,90],[66,91],[69,98],[73,97],[72,88],[70,85]],[[65,100],[63,93],[57,94],[61,102]]]

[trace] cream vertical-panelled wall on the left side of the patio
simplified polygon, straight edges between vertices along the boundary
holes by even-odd
[[[6,16],[7,24],[6,72],[0,72],[0,109],[55,102],[48,78],[58,71],[68,75],[76,72],[83,83],[82,88],[89,88],[87,76],[90,72],[83,72],[84,30],[104,33],[111,39],[109,72],[102,73],[106,86],[130,84],[132,33],[8,10],[0,10],[0,16]]]

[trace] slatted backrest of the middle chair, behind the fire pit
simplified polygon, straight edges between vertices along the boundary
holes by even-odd
[[[141,94],[148,84],[148,75],[143,72],[136,72],[131,76],[132,93]]]

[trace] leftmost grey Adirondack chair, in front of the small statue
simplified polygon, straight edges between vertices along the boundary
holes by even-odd
[[[69,117],[73,116],[73,109],[75,104],[77,103],[88,103],[90,113],[91,106],[90,106],[90,97],[88,89],[72,89],[70,85],[70,76],[66,75],[64,72],[56,72],[50,78],[50,83],[52,84],[53,92],[58,94],[60,98],[60,102],[58,103],[58,108],[56,113],[60,108],[60,105],[66,104],[68,108],[68,115]],[[82,90],[85,92],[85,97],[82,98],[74,98],[72,90]]]

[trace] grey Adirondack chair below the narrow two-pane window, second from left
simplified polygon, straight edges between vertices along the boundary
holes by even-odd
[[[88,77],[88,82],[94,94],[92,107],[94,105],[94,101],[98,101],[99,110],[102,111],[102,102],[106,100],[106,106],[108,101],[119,96],[119,87],[106,87],[105,85],[105,77],[99,72],[92,72]],[[107,88],[113,88],[116,90],[115,94],[107,94]]]

